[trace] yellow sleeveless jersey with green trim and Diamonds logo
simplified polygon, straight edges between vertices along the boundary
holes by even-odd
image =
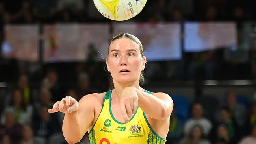
[[[91,144],[164,144],[166,139],[151,128],[140,107],[128,123],[118,122],[111,111],[111,92],[106,92],[100,115],[89,132]],[[145,90],[145,92],[149,92]]]

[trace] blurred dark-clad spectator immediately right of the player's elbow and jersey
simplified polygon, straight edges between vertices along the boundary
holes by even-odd
[[[170,127],[168,135],[166,137],[167,142],[171,144],[178,144],[178,141],[182,136],[182,129],[183,123],[181,120],[178,119],[176,115],[176,110],[174,108],[170,117]]]

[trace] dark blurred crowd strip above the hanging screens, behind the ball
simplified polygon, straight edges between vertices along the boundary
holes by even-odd
[[[255,20],[251,0],[148,0],[136,22],[184,20]],[[54,22],[106,22],[93,0],[0,0],[4,24]]]

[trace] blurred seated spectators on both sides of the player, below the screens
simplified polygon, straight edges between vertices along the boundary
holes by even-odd
[[[94,72],[82,67],[77,65],[73,86],[61,83],[53,68],[46,71],[39,87],[30,83],[28,75],[20,75],[1,97],[0,144],[66,144],[61,131],[64,114],[47,109],[67,95],[79,101],[87,94],[112,89],[108,81],[98,78],[97,82]],[[100,84],[108,87],[100,89]],[[193,100],[171,97],[175,105],[166,144],[256,143],[256,95],[250,101],[230,89],[221,99],[214,94]],[[80,144],[89,144],[88,134]]]

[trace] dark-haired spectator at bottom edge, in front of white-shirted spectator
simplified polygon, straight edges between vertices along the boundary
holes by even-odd
[[[210,141],[205,139],[204,133],[202,132],[202,127],[195,125],[193,129],[189,132],[188,138],[183,138],[180,140],[179,144],[211,144]]]

